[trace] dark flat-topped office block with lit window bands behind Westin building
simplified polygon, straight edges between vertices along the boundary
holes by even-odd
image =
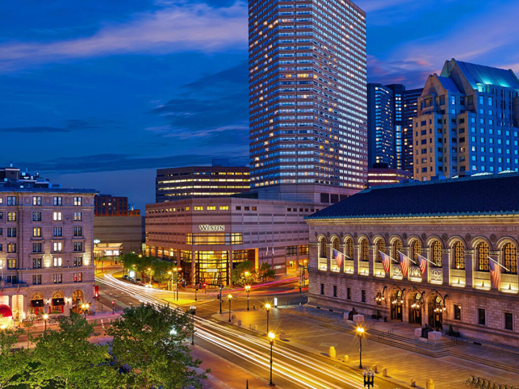
[[[250,188],[247,166],[215,163],[212,166],[187,166],[157,169],[155,201],[186,197],[230,196]]]

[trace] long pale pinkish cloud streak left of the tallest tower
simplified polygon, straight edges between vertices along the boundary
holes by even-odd
[[[52,42],[4,41],[0,45],[0,71],[122,53],[210,53],[229,48],[247,48],[247,4],[166,4],[166,8],[135,13],[124,23],[106,23],[88,37]]]

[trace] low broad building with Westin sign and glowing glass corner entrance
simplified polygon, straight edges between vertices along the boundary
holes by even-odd
[[[247,197],[249,196],[249,197]],[[308,260],[303,217],[322,207],[250,195],[180,199],[146,205],[146,253],[182,267],[188,283],[228,285],[237,263],[268,262],[294,274]]]

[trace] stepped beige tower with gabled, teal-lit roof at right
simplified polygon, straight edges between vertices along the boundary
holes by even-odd
[[[415,179],[519,169],[519,79],[446,61],[427,79],[413,120]]]

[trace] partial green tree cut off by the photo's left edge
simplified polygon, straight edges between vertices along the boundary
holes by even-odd
[[[23,382],[29,367],[29,350],[14,349],[23,330],[0,330],[0,389]]]

